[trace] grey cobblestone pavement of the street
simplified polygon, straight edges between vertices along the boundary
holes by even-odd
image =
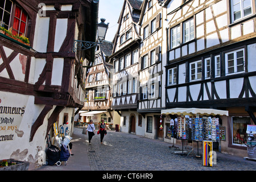
[[[79,130],[79,129],[78,129]],[[79,131],[81,132],[81,131]],[[172,144],[148,139],[134,134],[108,131],[104,144],[100,135],[94,135],[88,143],[88,158],[92,171],[255,171],[256,162],[217,153],[217,164],[213,167],[202,165],[202,159],[193,155],[174,154],[179,149]]]

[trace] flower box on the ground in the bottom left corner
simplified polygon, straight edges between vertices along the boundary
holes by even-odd
[[[0,160],[0,171],[28,171],[29,162],[15,159]]]

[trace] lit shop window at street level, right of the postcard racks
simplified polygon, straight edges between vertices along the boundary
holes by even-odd
[[[250,124],[250,117],[232,117],[232,144],[245,146],[246,129]]]

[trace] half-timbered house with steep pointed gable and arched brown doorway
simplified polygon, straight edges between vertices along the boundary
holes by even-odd
[[[144,134],[141,115],[137,113],[139,99],[139,15],[142,1],[125,0],[118,19],[110,59],[113,60],[112,109],[121,116],[121,131]]]

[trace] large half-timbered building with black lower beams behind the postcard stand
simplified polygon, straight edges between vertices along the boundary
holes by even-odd
[[[221,152],[247,156],[255,125],[255,1],[164,1],[167,8],[166,107],[228,110]]]

